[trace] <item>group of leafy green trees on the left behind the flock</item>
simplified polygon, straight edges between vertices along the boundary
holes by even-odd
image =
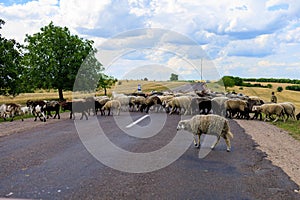
[[[0,19],[0,29],[4,24]],[[24,45],[0,34],[0,95],[57,89],[63,100],[64,90],[101,87],[106,91],[117,79],[103,73],[93,44],[53,22],[33,35],[26,34]]]

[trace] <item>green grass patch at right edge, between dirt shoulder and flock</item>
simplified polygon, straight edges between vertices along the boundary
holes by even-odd
[[[275,123],[273,122],[270,123],[283,130],[286,130],[293,138],[300,141],[300,121],[294,121],[289,119],[286,122],[277,121]]]

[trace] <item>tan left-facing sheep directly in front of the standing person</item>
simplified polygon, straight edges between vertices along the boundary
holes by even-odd
[[[280,105],[280,104],[275,104],[275,103],[263,104],[261,106],[253,106],[253,111],[264,113],[266,115],[264,121],[269,120],[269,118],[273,114],[275,114],[277,116],[276,119],[273,122],[276,122],[279,119],[279,117],[284,116],[283,106]],[[284,117],[283,117],[283,121],[285,122]]]

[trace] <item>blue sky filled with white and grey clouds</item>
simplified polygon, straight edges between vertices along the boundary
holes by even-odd
[[[20,43],[68,27],[118,79],[300,79],[298,0],[1,0],[0,18]]]

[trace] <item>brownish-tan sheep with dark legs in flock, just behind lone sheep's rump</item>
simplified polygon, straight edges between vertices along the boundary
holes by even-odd
[[[240,114],[242,117],[249,119],[248,105],[245,101],[240,99],[229,99],[225,101],[226,116],[232,118],[235,113]]]

